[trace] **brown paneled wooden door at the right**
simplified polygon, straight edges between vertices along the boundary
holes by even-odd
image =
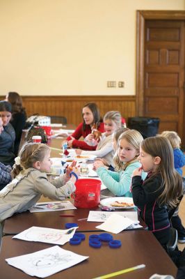
[[[145,22],[144,115],[157,116],[160,130],[182,136],[184,108],[184,20]]]

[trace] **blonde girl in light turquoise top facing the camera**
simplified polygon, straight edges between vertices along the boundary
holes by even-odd
[[[115,172],[106,169],[100,160],[94,168],[108,190],[116,196],[132,197],[130,192],[131,177],[134,169],[140,167],[138,161],[139,146],[143,137],[137,130],[126,130],[118,139],[118,150],[115,153]],[[143,173],[143,178],[147,174]]]

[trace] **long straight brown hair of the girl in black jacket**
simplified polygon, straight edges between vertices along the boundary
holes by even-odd
[[[166,137],[147,137],[140,146],[150,156],[161,158],[156,171],[152,174],[160,173],[162,177],[161,188],[163,188],[163,192],[158,197],[159,205],[177,206],[179,197],[182,196],[182,177],[175,171],[173,151],[169,140]]]

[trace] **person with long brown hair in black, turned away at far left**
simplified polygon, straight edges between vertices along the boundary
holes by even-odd
[[[19,151],[19,143],[21,140],[22,130],[26,124],[26,112],[22,107],[22,98],[17,92],[8,92],[6,101],[12,105],[12,117],[10,123],[15,130],[15,155]]]

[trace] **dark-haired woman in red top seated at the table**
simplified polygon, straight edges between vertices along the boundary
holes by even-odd
[[[79,124],[77,129],[67,137],[67,144],[71,148],[79,148],[83,150],[96,150],[97,146],[89,146],[83,139],[92,133],[92,127],[95,126],[100,132],[104,132],[104,123],[100,117],[99,109],[95,103],[88,103],[82,109],[83,122]]]

